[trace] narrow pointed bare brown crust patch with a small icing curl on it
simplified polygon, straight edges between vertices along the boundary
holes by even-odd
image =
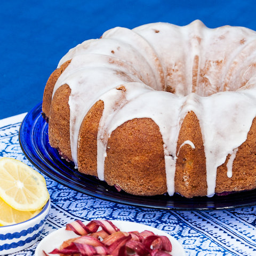
[[[195,149],[188,144],[180,148],[186,140],[193,142]],[[206,195],[206,160],[203,138],[199,121],[193,111],[186,115],[181,125],[176,155],[178,158],[175,171],[175,192],[187,198]]]

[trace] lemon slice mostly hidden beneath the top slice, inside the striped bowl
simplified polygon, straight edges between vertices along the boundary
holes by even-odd
[[[13,209],[0,198],[0,226],[10,226],[35,217],[42,209],[23,212]]]

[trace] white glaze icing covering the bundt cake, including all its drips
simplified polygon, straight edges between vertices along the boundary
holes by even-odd
[[[255,31],[229,26],[210,29],[201,21],[184,27],[152,23],[133,30],[114,28],[101,39],[76,46],[61,59],[59,66],[72,60],[54,87],[55,92],[67,83],[71,89],[73,161],[77,164],[83,118],[102,100],[105,109],[97,142],[99,179],[104,179],[111,133],[126,121],[147,117],[162,134],[167,191],[173,195],[179,131],[187,113],[194,111],[204,143],[207,195],[213,196],[218,166],[231,154],[230,176],[235,150],[246,140],[256,116],[255,57]],[[125,90],[117,90],[121,85]]]

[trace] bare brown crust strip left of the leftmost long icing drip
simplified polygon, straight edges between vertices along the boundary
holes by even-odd
[[[61,85],[54,93],[49,119],[49,142],[53,148],[58,148],[63,157],[72,160],[70,149],[68,98],[71,90],[67,84]]]

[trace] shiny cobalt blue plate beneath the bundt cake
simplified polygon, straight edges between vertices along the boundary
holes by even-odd
[[[134,196],[118,192],[90,175],[79,173],[72,162],[61,159],[51,148],[48,140],[48,124],[41,116],[42,103],[29,111],[19,132],[20,146],[29,161],[51,179],[83,194],[98,197],[115,203],[132,206],[169,210],[213,210],[242,207],[256,204],[256,190],[228,196],[195,197],[187,199],[180,195]]]

